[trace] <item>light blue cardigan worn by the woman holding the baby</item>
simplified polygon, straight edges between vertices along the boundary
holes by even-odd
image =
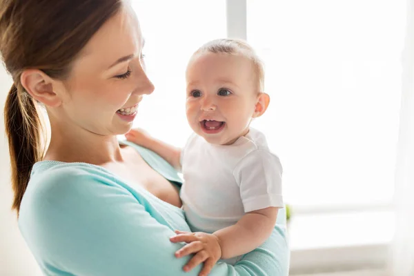
[[[154,152],[124,142],[170,181],[177,172]],[[139,173],[139,172],[137,172]],[[262,246],[230,266],[215,265],[210,275],[288,275],[286,214],[279,210],[273,234]],[[34,164],[21,202],[19,228],[46,275],[197,275],[185,273],[189,257],[177,259],[182,244],[174,230],[189,231],[181,209],[144,188],[132,189],[103,167],[41,161]]]

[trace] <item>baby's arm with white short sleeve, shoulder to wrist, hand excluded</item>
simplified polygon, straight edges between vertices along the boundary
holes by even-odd
[[[221,258],[242,255],[257,248],[275,227],[283,207],[282,165],[268,150],[250,152],[233,171],[240,187],[245,215],[237,224],[218,230]]]

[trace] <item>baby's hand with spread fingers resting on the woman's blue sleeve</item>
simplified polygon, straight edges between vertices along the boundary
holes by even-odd
[[[213,234],[202,232],[189,233],[176,230],[177,234],[170,238],[171,242],[186,242],[187,245],[175,253],[175,257],[180,258],[195,253],[195,256],[184,266],[184,271],[188,272],[204,262],[203,270],[199,276],[206,276],[211,268],[221,258],[221,247],[219,238]]]

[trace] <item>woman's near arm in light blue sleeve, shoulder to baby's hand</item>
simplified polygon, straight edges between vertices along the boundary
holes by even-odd
[[[197,275],[184,273],[175,235],[152,206],[105,177],[61,168],[42,177],[19,219],[41,266],[57,275]],[[145,206],[147,204],[147,206]],[[157,215],[157,214],[154,214]]]

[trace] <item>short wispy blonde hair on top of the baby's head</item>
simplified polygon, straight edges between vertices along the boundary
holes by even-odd
[[[215,54],[239,54],[250,59],[257,75],[257,84],[260,89],[259,92],[264,92],[264,64],[262,60],[259,59],[252,46],[248,45],[246,41],[242,39],[215,39],[208,41],[201,46],[193,56],[203,52],[213,52]]]

